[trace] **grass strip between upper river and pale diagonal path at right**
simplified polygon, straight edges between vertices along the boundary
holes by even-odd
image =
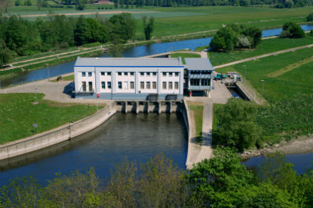
[[[208,53],[208,57],[213,66],[223,65],[228,62],[234,62],[245,58],[272,53],[278,50],[294,48],[302,45],[310,45],[313,43],[313,35],[306,34],[305,38],[272,38],[262,40],[262,43],[254,49],[250,50],[235,50],[230,53],[213,52]]]

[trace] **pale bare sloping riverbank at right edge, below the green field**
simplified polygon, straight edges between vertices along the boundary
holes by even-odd
[[[266,155],[267,153],[282,152],[286,155],[293,155],[299,153],[313,153],[313,135],[300,136],[291,141],[282,141],[272,147],[262,148],[260,150],[245,150],[240,153],[241,157],[245,159]]]

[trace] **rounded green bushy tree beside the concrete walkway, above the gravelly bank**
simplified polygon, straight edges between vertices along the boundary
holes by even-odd
[[[213,129],[213,144],[230,146],[243,151],[260,140],[261,128],[255,123],[257,109],[254,104],[240,99],[228,99],[216,110],[218,127]]]

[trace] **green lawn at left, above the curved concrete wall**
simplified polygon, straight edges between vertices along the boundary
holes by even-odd
[[[48,131],[96,111],[96,106],[61,104],[43,97],[44,94],[38,94],[38,104],[33,104],[35,94],[0,94],[0,143],[33,135],[33,124],[38,124],[37,133]]]

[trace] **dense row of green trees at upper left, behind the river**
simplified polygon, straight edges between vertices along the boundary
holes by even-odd
[[[62,50],[87,43],[134,40],[136,20],[130,13],[111,18],[79,18],[50,15],[48,20],[27,21],[18,16],[0,17],[1,65],[9,56],[32,55],[49,50]]]

